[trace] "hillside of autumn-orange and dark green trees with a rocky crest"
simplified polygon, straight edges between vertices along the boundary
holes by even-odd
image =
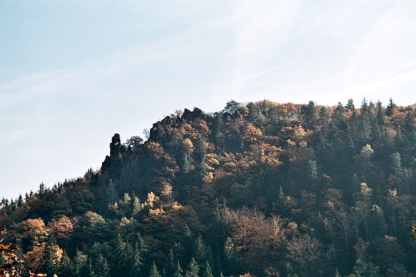
[[[360,106],[230,101],[115,134],[101,170],[3,199],[5,241],[48,276],[416,276],[415,106]]]

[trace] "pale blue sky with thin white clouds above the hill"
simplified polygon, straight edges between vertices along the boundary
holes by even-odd
[[[177,109],[416,103],[416,1],[0,0],[0,197]]]

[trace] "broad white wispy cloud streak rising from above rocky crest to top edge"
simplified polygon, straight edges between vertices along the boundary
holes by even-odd
[[[250,82],[277,69],[302,1],[238,1],[232,12],[234,45],[220,90],[241,97]],[[217,88],[218,89],[218,88]]]

